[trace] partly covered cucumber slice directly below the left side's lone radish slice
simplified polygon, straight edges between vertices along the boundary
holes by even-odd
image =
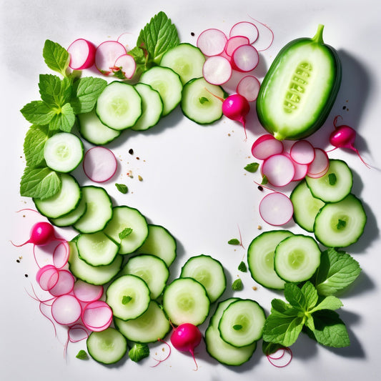
[[[102,187],[87,185],[81,187],[86,212],[73,225],[74,229],[81,233],[99,232],[112,218],[112,200]]]

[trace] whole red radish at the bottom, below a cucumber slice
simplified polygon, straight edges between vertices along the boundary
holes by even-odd
[[[172,345],[181,352],[190,352],[196,367],[198,367],[194,357],[194,348],[201,342],[202,335],[196,325],[184,323],[174,328],[171,335]]]

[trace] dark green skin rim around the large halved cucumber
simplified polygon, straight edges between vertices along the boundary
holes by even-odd
[[[257,97],[257,116],[259,119],[260,124],[262,124],[262,127],[267,130],[270,134],[273,134],[274,137],[277,137],[277,127],[274,126],[271,121],[269,120],[269,116],[267,115],[267,112],[265,110],[265,104],[267,102],[266,100],[266,91],[269,88],[269,86],[272,85],[272,76],[274,76],[274,73],[277,71],[280,64],[282,64],[282,59],[284,54],[291,48],[295,47],[299,44],[318,44],[313,41],[311,38],[299,38],[294,39],[290,41],[288,44],[286,44],[277,54],[274,61],[272,62],[269,71],[267,71],[267,74],[264,76],[264,79],[262,81],[262,84],[259,88],[259,94]],[[287,136],[277,137],[279,140],[283,139],[289,139],[289,140],[298,140],[298,139],[304,139],[306,137],[309,137],[311,134],[316,132],[320,127],[322,127],[322,124],[324,124],[325,120],[327,119],[328,115],[330,114],[330,111],[333,107],[333,104],[335,103],[335,99],[337,97],[337,93],[340,89],[341,79],[342,79],[342,66],[340,62],[340,57],[337,54],[337,51],[330,45],[327,44],[320,44],[320,49],[325,50],[325,54],[328,54],[332,56],[333,61],[333,69],[335,70],[335,80],[331,84],[330,94],[327,97],[327,101],[325,102],[325,105],[322,107],[321,112],[317,119],[315,121],[311,122],[309,126],[304,130],[304,132],[300,133],[292,133],[290,131]]]

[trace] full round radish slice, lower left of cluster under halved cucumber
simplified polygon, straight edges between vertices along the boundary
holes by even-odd
[[[264,160],[262,174],[274,187],[284,187],[294,179],[295,167],[287,155],[274,154]]]

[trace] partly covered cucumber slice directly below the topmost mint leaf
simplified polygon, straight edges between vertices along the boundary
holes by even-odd
[[[139,79],[159,92],[163,101],[163,117],[172,112],[182,99],[182,81],[179,74],[169,67],[154,66],[144,71]]]

